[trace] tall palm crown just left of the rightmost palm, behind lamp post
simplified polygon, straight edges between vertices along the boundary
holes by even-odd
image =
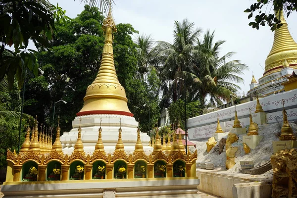
[[[195,54],[198,53],[198,50],[195,49],[195,45],[197,45],[201,30],[194,29],[194,25],[187,19],[182,22],[175,21],[173,44],[164,41],[158,42],[156,51],[164,64],[160,71],[164,90],[170,91],[170,87],[172,87],[170,81],[177,77],[185,80],[196,78],[191,71],[196,67]],[[175,83],[175,86],[172,87],[173,101],[181,97],[183,85],[183,83]],[[175,87],[178,89],[177,92]],[[163,95],[168,96],[167,93]]]

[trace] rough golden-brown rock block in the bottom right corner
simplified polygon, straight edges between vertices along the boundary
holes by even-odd
[[[281,150],[271,156],[272,197],[297,198],[297,148]]]

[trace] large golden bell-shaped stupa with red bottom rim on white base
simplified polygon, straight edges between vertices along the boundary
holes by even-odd
[[[94,82],[87,88],[84,106],[77,116],[90,114],[117,114],[133,116],[130,112],[125,89],[117,79],[114,67],[112,33],[116,31],[111,7],[103,21],[105,40],[99,72]]]

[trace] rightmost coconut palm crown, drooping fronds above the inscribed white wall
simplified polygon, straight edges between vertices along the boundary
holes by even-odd
[[[195,71],[197,78],[194,79],[193,99],[200,99],[201,106],[205,105],[206,96],[210,96],[209,104],[222,105],[223,101],[230,99],[230,94],[241,88],[234,84],[244,83],[239,74],[248,69],[239,60],[226,61],[231,58],[234,52],[219,57],[219,49],[225,41],[214,43],[214,32],[209,30],[203,36],[202,41],[198,41],[196,49],[198,52],[198,69]]]

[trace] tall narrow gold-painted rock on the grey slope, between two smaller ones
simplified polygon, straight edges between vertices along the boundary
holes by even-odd
[[[235,153],[237,147],[232,147],[232,144],[238,141],[238,136],[235,133],[229,133],[226,140],[226,168],[230,169],[235,165]]]

